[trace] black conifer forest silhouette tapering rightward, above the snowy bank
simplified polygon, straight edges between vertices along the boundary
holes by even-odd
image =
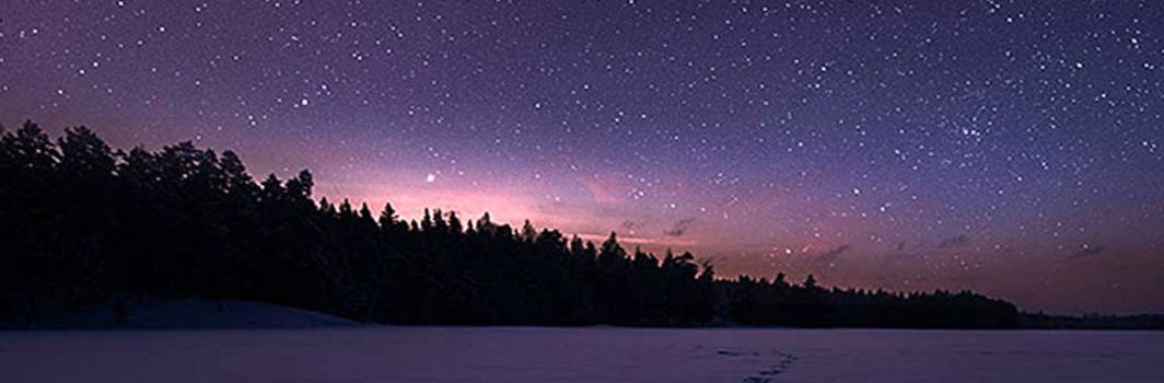
[[[312,176],[249,176],[189,142],[0,139],[0,321],[135,302],[253,299],[392,324],[1013,327],[1015,306],[961,292],[887,293],[716,279],[689,253],[627,251],[558,230],[312,199]]]

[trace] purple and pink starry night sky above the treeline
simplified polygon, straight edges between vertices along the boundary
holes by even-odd
[[[1164,3],[2,0],[0,121],[721,276],[1164,312]]]

